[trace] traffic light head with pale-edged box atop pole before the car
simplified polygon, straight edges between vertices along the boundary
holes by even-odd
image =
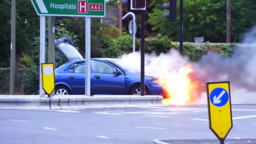
[[[127,10],[146,10],[146,0],[122,0]]]

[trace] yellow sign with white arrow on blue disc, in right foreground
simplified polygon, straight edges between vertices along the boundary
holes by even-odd
[[[233,127],[230,82],[206,82],[206,90],[210,130],[224,140]]]

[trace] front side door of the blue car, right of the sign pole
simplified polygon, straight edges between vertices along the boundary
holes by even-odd
[[[95,94],[125,94],[125,75],[116,74],[117,68],[100,60],[91,60],[93,92]]]

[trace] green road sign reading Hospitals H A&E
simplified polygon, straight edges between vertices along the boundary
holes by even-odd
[[[39,16],[105,17],[106,0],[31,0]]]

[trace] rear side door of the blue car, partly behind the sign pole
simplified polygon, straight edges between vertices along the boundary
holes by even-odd
[[[68,83],[73,90],[74,95],[84,95],[85,94],[85,61],[82,62],[74,62],[69,67],[69,80]],[[92,91],[92,74],[90,78],[91,85],[91,94]]]

